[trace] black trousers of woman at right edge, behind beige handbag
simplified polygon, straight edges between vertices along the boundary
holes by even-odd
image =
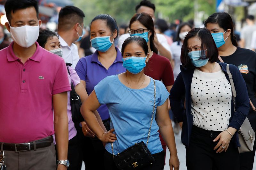
[[[256,113],[250,112],[248,114],[248,119],[251,123],[252,129],[254,132],[256,131]],[[252,152],[245,152],[240,154],[240,170],[252,170],[254,156],[256,150],[256,140],[254,140],[253,150]]]

